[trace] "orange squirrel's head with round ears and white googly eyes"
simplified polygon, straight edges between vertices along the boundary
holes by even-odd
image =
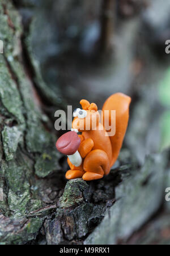
[[[76,108],[73,112],[73,129],[78,129],[79,132],[96,129],[100,121],[100,114],[97,111],[96,104],[90,104],[86,99],[80,100],[80,104],[82,109]]]

